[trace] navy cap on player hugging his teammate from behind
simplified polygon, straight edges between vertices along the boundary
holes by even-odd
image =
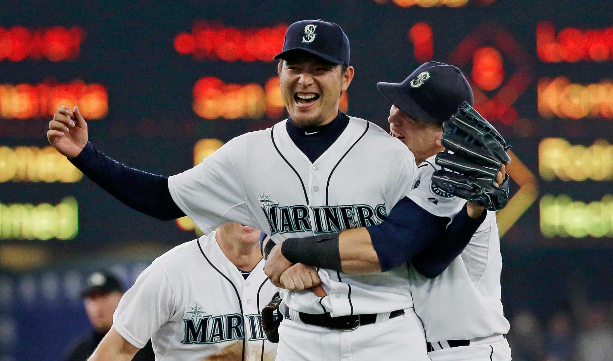
[[[392,104],[411,118],[443,123],[462,102],[473,105],[473,89],[459,68],[428,61],[402,83],[377,83]]]

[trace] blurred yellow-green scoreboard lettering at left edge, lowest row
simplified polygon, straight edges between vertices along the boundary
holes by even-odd
[[[0,203],[0,239],[70,240],[78,233],[78,205],[73,197],[53,206]]]

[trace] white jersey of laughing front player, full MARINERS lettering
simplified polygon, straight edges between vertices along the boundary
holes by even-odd
[[[278,243],[379,224],[410,191],[414,156],[375,124],[349,118],[313,163],[292,142],[284,120],[232,139],[196,167],[170,177],[170,194],[205,234],[234,221]],[[319,277],[326,297],[283,290],[287,306],[332,316],[413,306],[406,266],[373,275],[319,270]]]

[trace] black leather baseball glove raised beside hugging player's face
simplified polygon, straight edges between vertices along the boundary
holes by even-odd
[[[501,210],[509,201],[509,176],[497,188],[496,175],[511,162],[506,153],[511,145],[467,102],[443,123],[441,143],[445,151],[436,154],[435,162],[443,169],[434,172],[433,183],[487,210]]]

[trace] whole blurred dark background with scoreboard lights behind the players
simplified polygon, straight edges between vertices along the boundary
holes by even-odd
[[[284,119],[272,57],[307,18],[345,29],[356,77],[341,108],[386,130],[376,82],[429,60],[463,70],[513,145],[498,224],[514,360],[613,359],[612,13],[601,0],[2,2],[0,361],[59,360],[90,329],[89,272],[129,285],[197,235],[130,210],[51,149],[58,105],[78,105],[118,161],[182,172]]]

